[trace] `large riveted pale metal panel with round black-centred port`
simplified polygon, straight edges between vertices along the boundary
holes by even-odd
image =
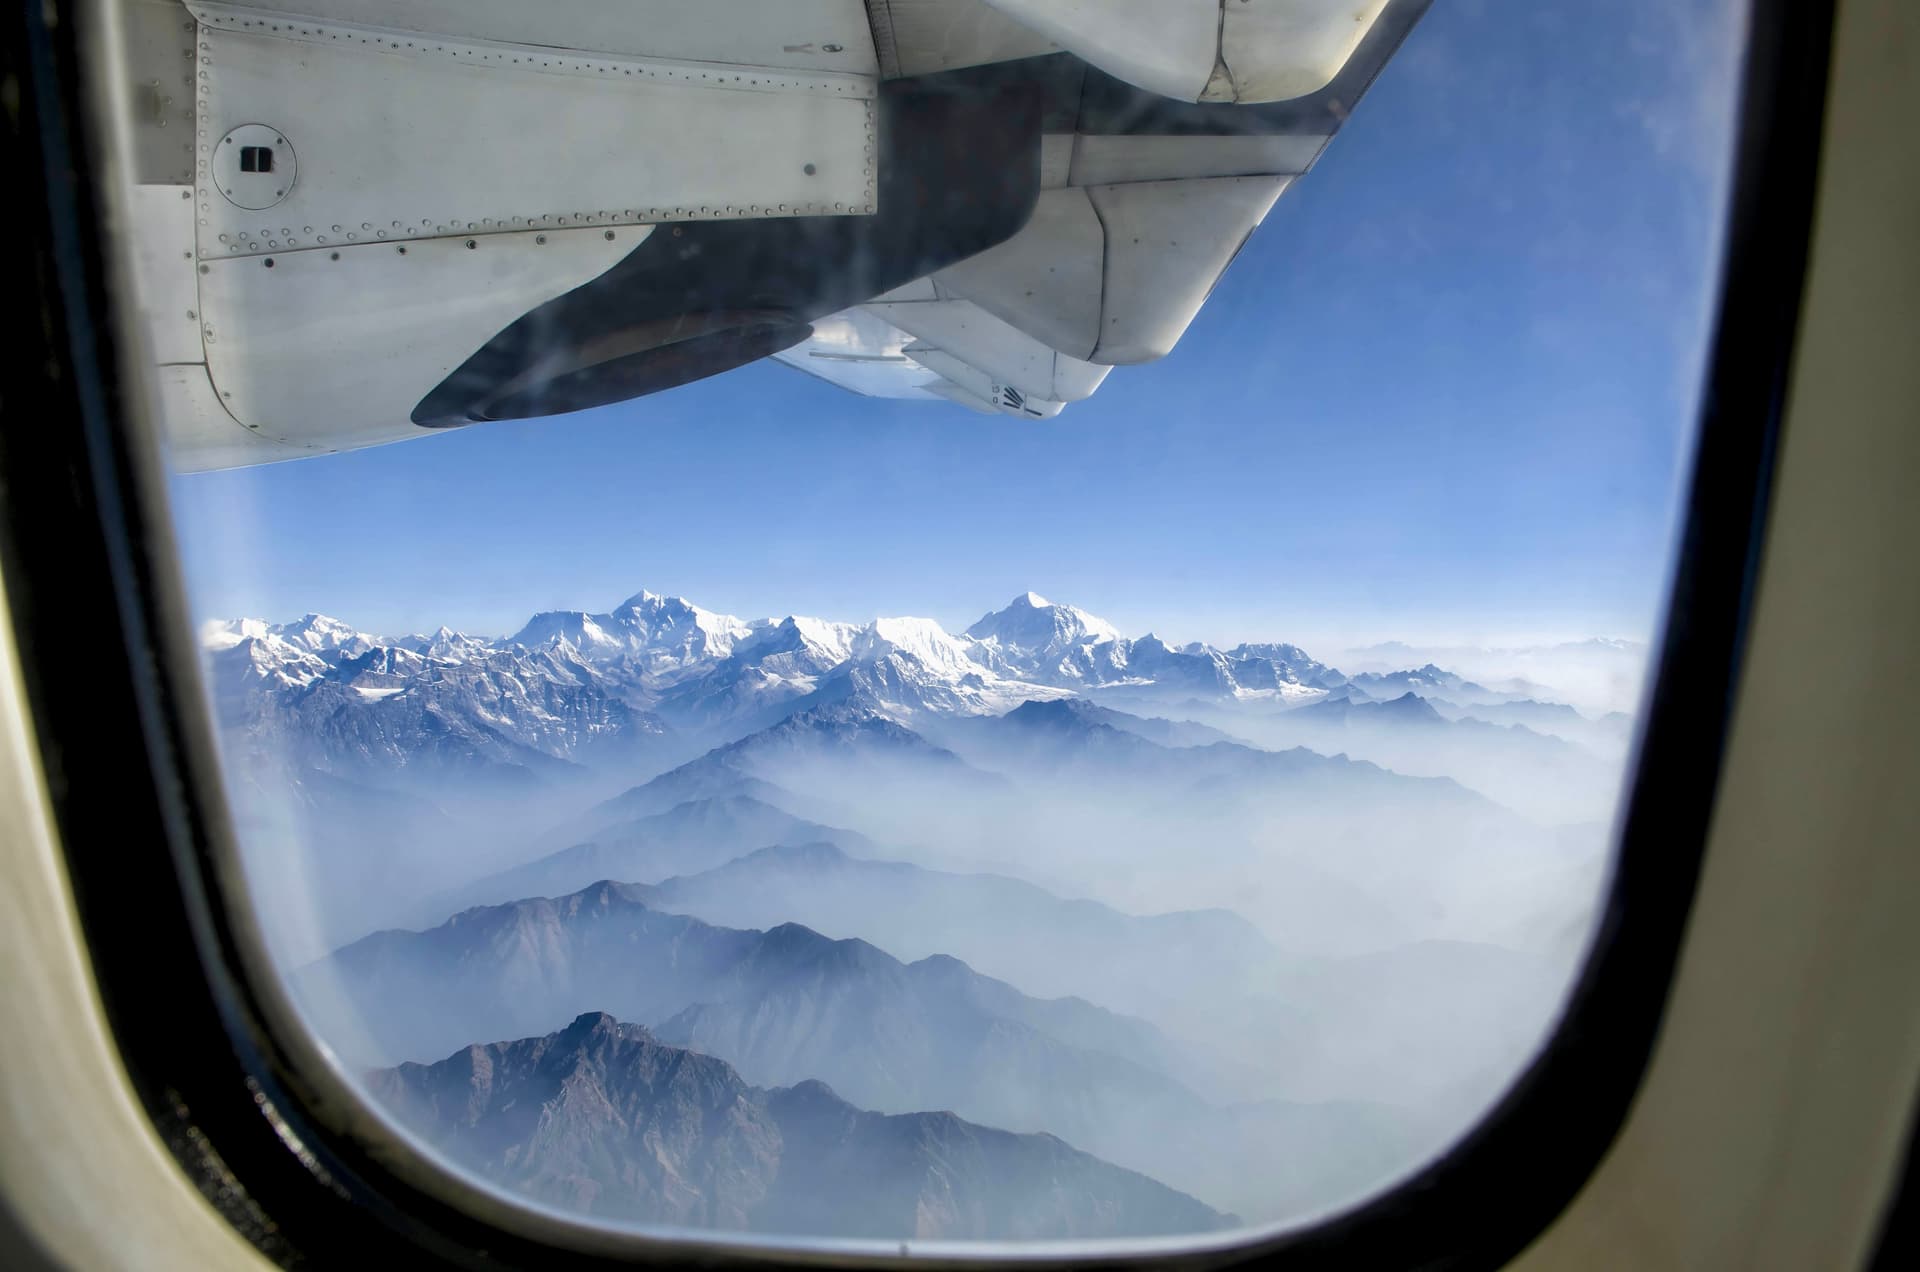
[[[205,257],[874,209],[870,77],[196,8]],[[246,123],[278,131],[300,154],[298,184],[265,211],[209,186],[211,150]]]

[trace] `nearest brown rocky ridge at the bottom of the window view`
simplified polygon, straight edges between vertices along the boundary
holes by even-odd
[[[1054,1136],[952,1113],[866,1113],[820,1082],[751,1088],[724,1061],[605,1013],[545,1038],[380,1070],[371,1084],[461,1164],[599,1218],[885,1239],[1235,1224]]]

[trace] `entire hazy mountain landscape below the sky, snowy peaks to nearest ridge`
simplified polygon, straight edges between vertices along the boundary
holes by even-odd
[[[1035,594],[202,646],[275,963],[399,1126],[597,1220],[889,1241],[1284,1222],[1442,1151],[1578,968],[1645,657],[1340,671]]]

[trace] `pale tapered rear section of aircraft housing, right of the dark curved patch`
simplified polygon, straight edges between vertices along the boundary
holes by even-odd
[[[1056,127],[1112,127],[1087,96]],[[1238,110],[1242,127],[1267,123]],[[1029,419],[1089,398],[1117,365],[1164,357],[1332,135],[1325,115],[1225,135],[1192,131],[1196,119],[1221,115],[1148,121],[1165,129],[1154,133],[1050,131],[1041,198],[1018,234],[816,319],[812,338],[776,357],[870,398]]]

